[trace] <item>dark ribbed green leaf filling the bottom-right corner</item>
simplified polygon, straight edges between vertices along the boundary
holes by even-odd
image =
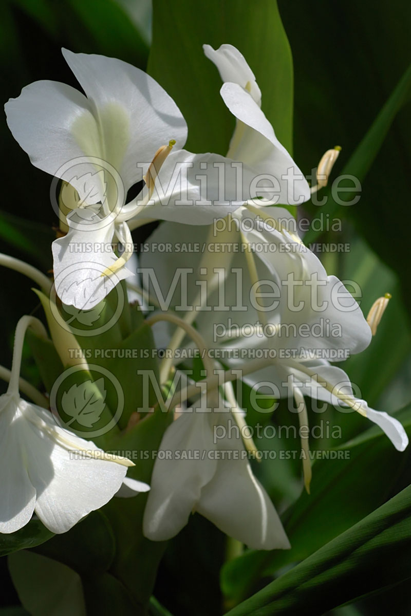
[[[411,487],[227,616],[324,614],[411,577]]]

